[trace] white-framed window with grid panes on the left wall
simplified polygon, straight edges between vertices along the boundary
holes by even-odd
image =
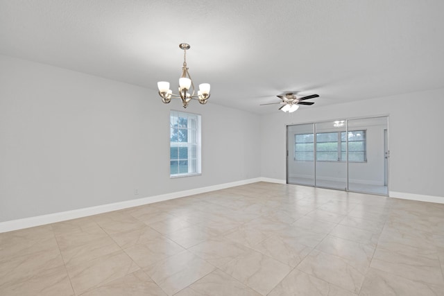
[[[200,174],[200,115],[171,111],[170,177]]]

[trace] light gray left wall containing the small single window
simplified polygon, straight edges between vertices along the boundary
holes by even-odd
[[[170,179],[179,101],[2,55],[0,81],[0,222],[260,176],[255,114],[191,102],[185,111],[202,115],[202,175]]]

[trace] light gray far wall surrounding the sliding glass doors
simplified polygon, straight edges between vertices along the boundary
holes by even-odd
[[[323,100],[323,98],[319,98]],[[285,126],[335,119],[389,115],[389,190],[444,198],[444,89],[297,112],[275,112],[261,118],[262,177],[285,180]]]

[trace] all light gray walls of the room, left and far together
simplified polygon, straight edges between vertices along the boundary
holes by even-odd
[[[390,190],[444,198],[444,89],[264,116],[193,102],[187,111],[202,114],[203,174],[170,179],[169,112],[182,110],[179,102],[2,55],[0,82],[0,222],[255,177],[285,180],[287,124],[375,115],[390,116]]]

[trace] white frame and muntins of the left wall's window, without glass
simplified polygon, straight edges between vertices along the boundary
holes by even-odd
[[[187,119],[187,126],[179,126],[176,123],[179,118]],[[190,124],[191,121],[191,124]],[[193,124],[192,121],[195,121]],[[190,113],[190,112],[182,112],[178,110],[171,110],[169,116],[169,124],[170,124],[170,140],[169,140],[169,176],[170,178],[177,177],[191,177],[202,174],[202,166],[201,166],[201,121],[202,116],[200,114]],[[173,138],[174,130],[185,130],[187,132],[186,140],[187,141],[171,141]],[[178,132],[177,132],[178,134]],[[173,153],[172,148],[178,148],[177,158],[172,158],[171,155]],[[181,158],[181,150],[180,148],[187,148],[187,157]],[[182,150],[183,151],[183,150]],[[177,173],[173,173],[171,169],[173,167],[173,162],[178,162],[178,170]],[[180,162],[187,162],[187,172],[180,173]]]

